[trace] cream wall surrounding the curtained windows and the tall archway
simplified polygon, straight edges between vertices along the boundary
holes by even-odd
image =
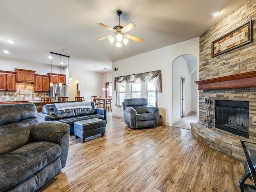
[[[172,62],[183,54],[194,55],[197,59],[197,66],[199,66],[199,37],[113,62],[112,82],[117,76],[161,70],[163,92],[159,93],[159,113],[162,114],[163,123],[171,126]],[[117,71],[114,71],[115,67],[118,68]],[[115,106],[116,92],[113,92],[112,100],[112,115],[123,116],[122,108]]]

